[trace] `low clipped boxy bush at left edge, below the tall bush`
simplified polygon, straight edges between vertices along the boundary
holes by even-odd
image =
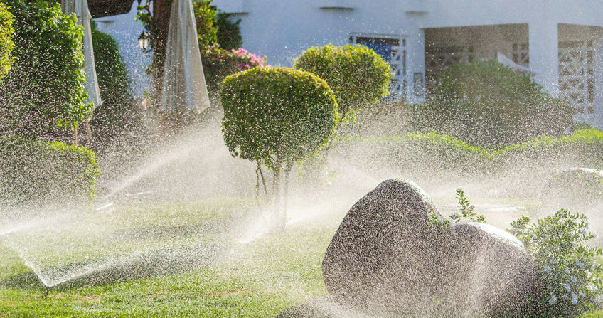
[[[94,152],[60,142],[0,137],[0,202],[89,202],[99,174]]]

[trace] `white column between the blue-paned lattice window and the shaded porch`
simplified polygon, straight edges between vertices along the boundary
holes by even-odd
[[[415,74],[420,73],[420,83],[415,83]],[[417,74],[418,75],[418,74]],[[406,38],[406,102],[425,102],[425,31],[417,26]],[[415,94],[415,85],[422,86],[422,92]]]

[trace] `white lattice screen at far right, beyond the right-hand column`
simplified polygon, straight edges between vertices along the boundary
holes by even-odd
[[[594,112],[594,41],[559,43],[559,97],[577,113]]]

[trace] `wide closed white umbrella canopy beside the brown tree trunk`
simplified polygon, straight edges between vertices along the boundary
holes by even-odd
[[[163,80],[161,110],[210,107],[191,0],[172,2]]]

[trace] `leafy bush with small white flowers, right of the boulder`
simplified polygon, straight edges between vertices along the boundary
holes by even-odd
[[[523,242],[535,258],[545,283],[540,305],[547,317],[573,317],[602,300],[603,279],[596,258],[600,248],[584,243],[594,238],[587,232],[587,217],[560,210],[528,226],[522,216],[511,223],[510,233]]]

